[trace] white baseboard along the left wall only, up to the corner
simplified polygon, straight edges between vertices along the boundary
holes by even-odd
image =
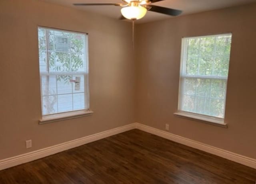
[[[68,141],[66,143],[54,145],[51,147],[47,147],[44,149],[40,149],[37,151],[32,151],[30,153],[25,153],[22,155],[18,155],[15,157],[11,157],[8,159],[0,160],[0,170],[13,167],[16,165],[20,165],[26,162],[34,161],[36,159],[41,159],[43,157],[47,157],[49,155],[53,155],[55,153],[59,153],[61,151],[65,151],[74,147],[78,147],[87,143],[91,143],[100,139],[104,139],[106,137],[110,137],[112,135],[116,135],[118,133],[122,133],[128,130],[132,130],[136,128],[136,123],[132,123],[130,125],[125,125],[122,127],[114,128],[111,130],[103,131],[100,133],[96,133],[94,135],[89,135],[86,137],[82,137],[80,139],[75,139],[72,141]]]

